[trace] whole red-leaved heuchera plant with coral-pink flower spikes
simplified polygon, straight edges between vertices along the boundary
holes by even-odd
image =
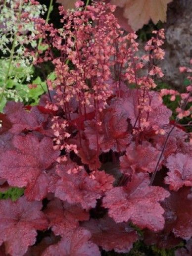
[[[60,7],[61,29],[36,19],[35,39],[47,50],[32,55],[52,62],[56,80],[47,80],[39,105],[8,102],[0,115],[0,189],[24,188],[18,201],[0,201],[0,252],[126,253],[141,239],[138,228],[146,244],[184,239],[188,252],[192,146],[178,122],[191,115],[192,85],[181,95],[154,91],[164,31],[153,31],[140,58],[136,34],[123,34],[113,5],[83,4]],[[168,94],[181,97],[174,123],[162,102]]]

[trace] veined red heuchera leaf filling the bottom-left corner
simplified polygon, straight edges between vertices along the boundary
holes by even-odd
[[[48,227],[42,203],[27,202],[24,197],[18,201],[0,201],[0,245],[5,242],[6,253],[22,256],[28,246],[35,244],[37,231]]]

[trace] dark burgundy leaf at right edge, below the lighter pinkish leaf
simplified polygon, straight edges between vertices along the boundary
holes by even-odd
[[[162,202],[165,209],[165,228],[173,231],[176,237],[192,237],[192,194],[191,188],[183,187]]]

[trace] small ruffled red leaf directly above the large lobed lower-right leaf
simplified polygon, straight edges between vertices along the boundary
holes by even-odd
[[[121,171],[125,174],[134,172],[153,172],[160,152],[148,142],[136,146],[132,142],[126,150],[126,155],[121,156]],[[160,166],[159,166],[160,168]]]

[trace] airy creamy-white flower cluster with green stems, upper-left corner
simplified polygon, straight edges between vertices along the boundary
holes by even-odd
[[[0,104],[2,98],[26,100],[28,87],[22,84],[29,82],[33,73],[33,56],[26,54],[26,49],[36,48],[34,18],[46,10],[45,5],[32,4],[30,0],[0,3]]]

